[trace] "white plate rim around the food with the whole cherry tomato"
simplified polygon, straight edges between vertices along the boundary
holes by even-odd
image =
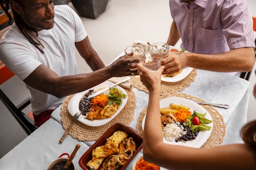
[[[194,110],[198,113],[202,113],[202,114],[206,113],[206,115],[204,115],[204,117],[209,120],[212,120],[211,115],[202,106],[200,106],[199,104],[197,104],[195,102],[192,102],[191,100],[184,99],[181,97],[167,97],[165,99],[162,99],[160,101],[160,108],[170,107],[170,103],[182,104],[184,106],[188,106],[188,107],[190,107],[190,111],[192,113],[194,112]],[[146,118],[146,115],[144,116],[144,118],[142,120],[142,130],[144,130],[145,118]],[[171,141],[167,141],[163,137],[164,143],[173,144],[173,145],[189,146],[189,147],[193,147],[193,148],[200,148],[207,141],[209,136],[211,135],[211,131],[213,128],[213,122],[207,124],[207,126],[211,126],[211,130],[204,130],[204,131],[200,130],[200,132],[198,133],[198,136],[194,140],[171,142]]]

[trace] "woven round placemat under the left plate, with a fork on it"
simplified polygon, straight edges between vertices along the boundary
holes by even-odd
[[[124,108],[114,117],[110,122],[104,124],[102,126],[88,126],[80,121],[76,121],[70,132],[68,133],[74,139],[79,139],[80,141],[96,141],[103,135],[110,126],[115,124],[116,122],[128,125],[133,120],[133,114],[136,108],[136,98],[135,94],[131,89],[124,88],[124,90],[128,94],[128,100]],[[67,109],[67,105],[70,99],[74,95],[67,96],[63,101],[63,105],[61,107],[61,121],[63,122],[63,128],[67,130],[68,126],[72,123],[73,116],[69,113]]]

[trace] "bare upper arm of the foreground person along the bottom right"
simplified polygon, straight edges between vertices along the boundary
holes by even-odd
[[[152,157],[151,162],[171,170],[254,170],[256,168],[252,149],[245,144],[213,148],[163,144]]]

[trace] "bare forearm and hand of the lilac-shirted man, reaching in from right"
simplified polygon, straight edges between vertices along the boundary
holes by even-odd
[[[185,66],[216,72],[249,72],[254,66],[254,60],[252,47],[212,55],[170,51],[162,65],[165,66],[163,74],[177,73]]]

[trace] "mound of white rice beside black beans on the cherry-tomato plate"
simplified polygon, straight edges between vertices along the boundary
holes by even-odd
[[[163,128],[163,135],[167,141],[174,142],[175,139],[182,137],[182,135],[186,135],[186,131],[184,131],[184,127],[180,126],[180,122],[172,122],[171,124],[166,124]]]

